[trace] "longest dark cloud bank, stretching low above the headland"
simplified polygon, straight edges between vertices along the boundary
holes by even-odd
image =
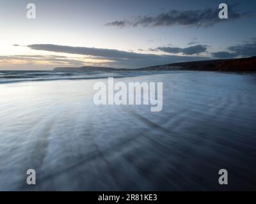
[[[159,64],[168,64],[172,62],[200,61],[209,59],[206,57],[191,57],[177,55],[154,55],[139,54],[136,52],[125,52],[120,50],[88,48],[88,47],[70,47],[62,45],[28,45],[33,50],[45,50],[50,52],[61,52],[68,54],[80,54],[93,56],[95,59],[106,59],[109,62],[97,64],[99,66],[111,66],[113,68],[142,68],[146,66],[156,66]],[[187,51],[191,52],[191,51]]]

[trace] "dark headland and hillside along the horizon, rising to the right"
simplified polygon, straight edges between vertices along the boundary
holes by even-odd
[[[168,70],[191,70],[191,71],[256,71],[256,57],[240,59],[218,59],[211,61],[179,62],[164,64],[139,69],[115,69],[105,67],[83,66],[81,68],[54,68],[54,71],[168,71]]]

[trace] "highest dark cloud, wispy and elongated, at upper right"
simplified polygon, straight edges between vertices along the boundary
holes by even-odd
[[[234,10],[237,5],[228,6],[228,19],[236,20],[239,18],[253,15],[253,12],[239,13]],[[219,22],[223,22],[223,19],[218,17],[218,9],[204,9],[204,10],[186,10],[177,11],[170,10],[167,13],[161,13],[157,16],[140,16],[134,18],[134,20],[122,20],[110,22],[106,25],[112,25],[117,27],[124,26],[172,26],[172,25],[186,25],[190,27],[209,27]]]

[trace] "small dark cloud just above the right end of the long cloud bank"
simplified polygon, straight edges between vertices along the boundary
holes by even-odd
[[[168,52],[171,54],[184,54],[184,55],[193,55],[193,54],[200,54],[207,50],[206,45],[195,45],[191,47],[186,48],[180,48],[180,47],[158,47],[158,50],[161,50],[163,52]]]

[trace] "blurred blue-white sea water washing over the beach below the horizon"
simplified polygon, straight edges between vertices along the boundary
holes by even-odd
[[[163,110],[95,105],[106,77],[163,82]],[[255,119],[253,75],[1,72],[0,190],[256,190]]]

